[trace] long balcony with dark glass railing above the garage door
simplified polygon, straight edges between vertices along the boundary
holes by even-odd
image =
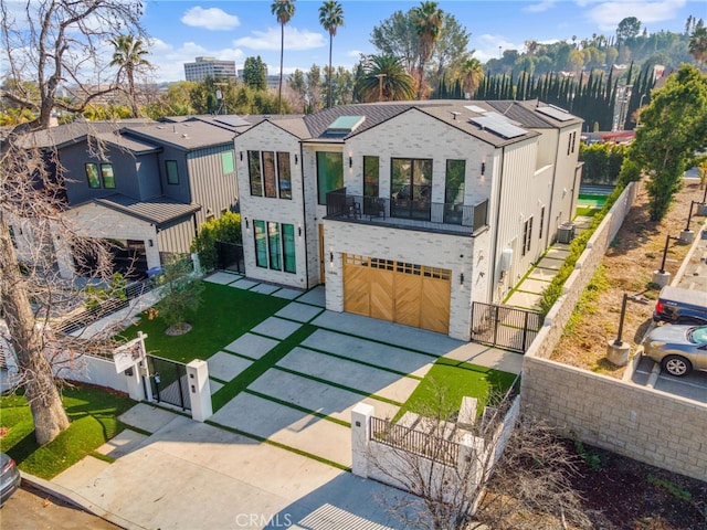
[[[474,205],[327,193],[327,219],[407,230],[475,234],[487,226],[488,200]]]

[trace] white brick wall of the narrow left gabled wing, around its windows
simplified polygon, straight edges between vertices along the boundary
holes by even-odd
[[[251,194],[247,166],[249,150],[289,152],[292,200]],[[295,156],[297,156],[297,163],[295,163]],[[309,221],[309,223],[305,221],[302,179],[303,161],[300,158],[299,139],[270,121],[263,121],[235,138],[235,172],[238,174],[238,188],[241,190],[241,226],[246,275],[261,282],[272,282],[306,289],[312,286],[307,278],[307,269],[312,267],[312,263],[308,264],[307,259],[312,254],[312,247],[316,248],[317,232],[313,221]],[[296,274],[272,271],[255,265],[254,220],[287,223],[295,226]],[[302,235],[299,235],[299,227],[302,227]]]

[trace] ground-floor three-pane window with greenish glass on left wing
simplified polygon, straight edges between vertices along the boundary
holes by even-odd
[[[255,265],[273,271],[296,273],[295,226],[270,221],[254,221]]]

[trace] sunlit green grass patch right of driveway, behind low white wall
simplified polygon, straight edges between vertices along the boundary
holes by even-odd
[[[505,394],[513,385],[516,374],[490,368],[440,358],[432,365],[422,382],[408,401],[400,407],[395,420],[410,411],[429,415],[440,409],[446,414],[456,413],[462,406],[462,398],[478,400],[478,413],[484,410],[489,394]]]

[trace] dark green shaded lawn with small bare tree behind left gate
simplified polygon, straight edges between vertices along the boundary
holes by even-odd
[[[188,319],[192,325],[190,332],[167,336],[167,325],[159,316],[150,320],[144,314],[139,324],[122,335],[133,339],[138,331],[144,331],[148,336],[145,341],[147,351],[158,357],[179,362],[205,360],[288,303],[275,296],[204,282],[199,310]],[[159,311],[159,304],[156,308]]]

